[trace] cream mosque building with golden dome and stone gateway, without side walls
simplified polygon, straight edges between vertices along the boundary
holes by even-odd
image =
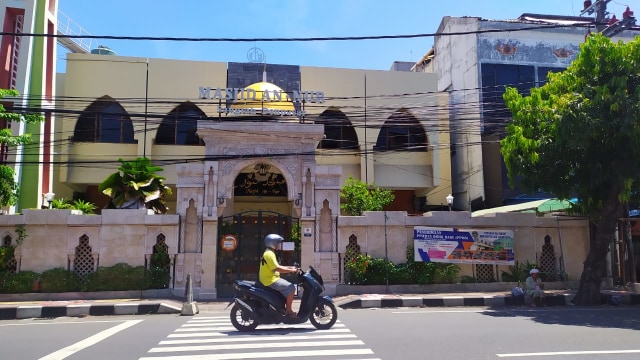
[[[202,299],[255,278],[264,236],[296,228],[285,260],[338,282],[349,177],[393,190],[389,210],[408,214],[451,192],[448,99],[433,74],[68,54],[57,84],[56,197],[102,207],[97,186],[118,159],[162,166],[175,272],[198,274]]]

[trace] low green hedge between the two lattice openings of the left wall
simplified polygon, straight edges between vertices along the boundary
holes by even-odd
[[[143,290],[147,287],[144,266],[132,267],[120,263],[99,267],[82,280],[82,291]]]

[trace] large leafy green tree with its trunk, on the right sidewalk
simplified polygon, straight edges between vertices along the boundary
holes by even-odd
[[[504,94],[513,119],[501,152],[509,179],[577,197],[595,224],[576,304],[599,304],[615,222],[640,180],[640,38],[592,35],[576,60],[522,96]]]

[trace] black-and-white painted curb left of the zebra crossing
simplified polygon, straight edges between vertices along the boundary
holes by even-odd
[[[179,314],[182,309],[166,303],[21,305],[0,308],[0,320],[107,315]]]

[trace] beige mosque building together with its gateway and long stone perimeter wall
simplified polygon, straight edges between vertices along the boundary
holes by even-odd
[[[433,74],[72,54],[57,84],[65,114],[55,131],[64,164],[55,167],[57,198],[104,205],[97,186],[119,158],[150,158],[174,191],[165,215],[0,217],[3,243],[15,244],[19,226],[28,234],[16,247],[20,271],[149,266],[164,249],[173,294],[184,294],[191,275],[195,299],[224,298],[233,280],[256,278],[262,239],[280,233],[294,240],[283,262],[314,266],[333,294],[349,250],[405,262],[415,227],[512,231],[519,261],[536,261],[549,238],[559,245],[557,270],[581,271],[585,220],[446,211],[448,98]],[[341,214],[350,176],[393,190],[394,203]],[[483,282],[506,270],[460,268]]]

